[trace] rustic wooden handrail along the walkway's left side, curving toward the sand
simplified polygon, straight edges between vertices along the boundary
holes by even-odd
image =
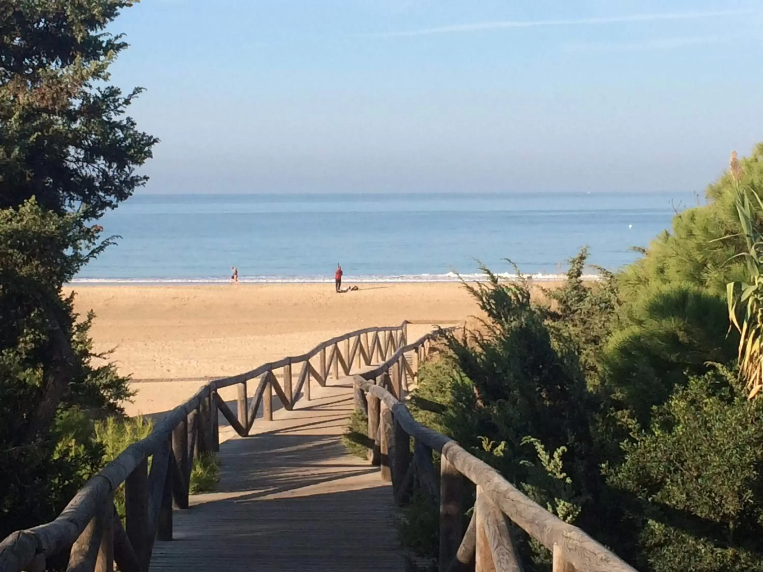
[[[8,535],[0,542],[0,572],[21,572],[21,570],[43,570],[45,558],[50,558],[64,550],[69,550],[72,545],[94,547],[95,539],[91,538],[93,531],[108,534],[98,548],[98,558],[95,569],[98,572],[111,572],[113,561],[123,563],[127,570],[122,572],[141,572],[146,570],[150,560],[153,540],[157,533],[159,538],[172,538],[172,513],[167,513],[166,506],[172,497],[180,508],[188,507],[188,481],[194,459],[206,451],[214,451],[219,443],[217,434],[217,411],[221,410],[230,422],[230,425],[240,435],[247,435],[254,423],[257,410],[263,404],[267,412],[272,412],[272,390],[285,408],[291,409],[304,395],[309,399],[311,372],[321,384],[325,383],[327,368],[321,363],[320,372],[309,362],[315,355],[325,355],[327,348],[335,349],[333,353],[333,365],[341,363],[343,370],[349,373],[353,368],[355,352],[359,352],[365,365],[371,365],[374,355],[373,346],[369,347],[368,334],[373,333],[378,342],[379,333],[385,335],[386,347],[391,343],[398,345],[407,340],[407,322],[400,326],[381,326],[358,329],[354,332],[336,336],[316,345],[314,349],[303,355],[283,358],[278,362],[260,365],[259,368],[247,371],[243,374],[229,378],[221,378],[210,381],[201,387],[196,394],[163,417],[156,424],[153,431],[145,439],[127,447],[114,461],[108,463],[98,474],[91,477],[85,485],[76,493],[74,498],[63,509],[59,516],[52,522],[35,526],[32,529],[20,530]],[[394,335],[393,335],[394,333]],[[357,338],[356,349],[350,355],[349,341]],[[432,339],[433,336],[424,336],[421,340]],[[362,339],[365,339],[363,347]],[[341,354],[340,342],[346,341],[346,355]],[[423,341],[421,342],[423,343]],[[414,345],[407,346],[413,348]],[[417,346],[418,347],[418,346]],[[378,342],[378,351],[383,352],[381,343]],[[394,355],[401,355],[404,349],[398,349]],[[406,350],[408,351],[408,350]],[[394,356],[393,356],[394,357]],[[388,360],[389,362],[390,360]],[[291,365],[304,363],[300,378],[291,394]],[[390,366],[380,366],[380,371],[388,371]],[[284,385],[278,384],[273,374],[274,369],[284,368]],[[246,395],[246,381],[261,376],[256,394],[250,404]],[[222,387],[234,384],[242,384],[243,391],[239,392],[239,418],[233,417],[233,412],[217,394]],[[242,403],[243,401],[243,403]],[[245,419],[241,419],[241,416]],[[266,413],[266,416],[269,414]],[[233,423],[237,421],[237,423]],[[136,505],[132,505],[127,515],[127,533],[121,529],[121,525],[104,525],[104,506],[111,510],[112,495],[114,491],[137,468],[145,470],[146,460],[153,456],[152,471],[147,478],[134,478],[126,483],[128,496],[131,495]],[[168,488],[169,487],[169,488]],[[130,492],[130,489],[132,491]],[[170,490],[171,489],[171,490]],[[128,500],[130,505],[130,500]],[[139,506],[140,505],[140,506]],[[143,506],[145,505],[145,506]],[[171,508],[171,506],[170,506]],[[149,538],[140,538],[138,544],[130,544],[130,512],[135,515],[133,524],[138,521],[145,522],[147,530],[144,535]],[[136,520],[137,519],[137,520]],[[169,519],[169,520],[168,520]],[[118,520],[118,519],[117,519]],[[89,526],[93,523],[92,526]],[[82,537],[85,529],[88,529],[86,537]],[[111,549],[113,548],[113,558]],[[108,554],[101,554],[107,551]],[[90,557],[89,557],[90,558]],[[137,568],[140,561],[141,569]],[[105,564],[104,564],[105,563]]]

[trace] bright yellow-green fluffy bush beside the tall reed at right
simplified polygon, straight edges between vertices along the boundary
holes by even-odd
[[[739,184],[761,194],[763,143],[741,165]],[[616,277],[621,306],[603,351],[604,380],[644,425],[652,407],[686,383],[685,371],[703,374],[705,362],[736,356],[739,336],[726,337],[725,304],[726,284],[746,278],[745,262],[735,258],[746,250],[735,189],[735,179],[723,175],[707,188],[706,205],[676,214],[672,232]],[[752,214],[761,216],[759,205]]]

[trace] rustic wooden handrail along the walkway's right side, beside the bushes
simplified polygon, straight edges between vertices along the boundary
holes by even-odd
[[[430,338],[430,336],[424,336]],[[423,340],[423,339],[422,339]],[[513,487],[498,471],[490,465],[465,451],[456,441],[446,435],[434,431],[418,423],[403,401],[392,394],[388,387],[382,387],[377,383],[379,374],[390,370],[392,365],[397,364],[404,353],[418,349],[422,340],[417,340],[410,345],[398,349],[385,363],[372,371],[364,371],[354,377],[354,382],[359,390],[362,390],[369,401],[369,437],[373,438],[370,431],[379,426],[379,435],[388,435],[391,428],[383,427],[385,423],[394,423],[395,427],[402,429],[403,438],[397,442],[389,443],[384,439],[382,446],[382,473],[391,474],[395,496],[398,500],[407,496],[409,491],[400,490],[404,484],[410,484],[413,479],[408,477],[409,467],[388,467],[385,472],[384,457],[392,459],[404,459],[410,455],[410,437],[414,439],[414,464],[419,474],[419,482],[423,490],[440,505],[440,562],[439,570],[465,570],[468,560],[475,559],[477,553],[476,572],[481,570],[520,570],[521,564],[517,561],[516,551],[513,545],[507,545],[508,529],[497,517],[500,510],[501,517],[505,516],[512,520],[520,528],[554,554],[554,572],[565,570],[577,570],[578,572],[636,572],[629,564],[617,557],[616,554],[600,545],[577,526],[562,521],[557,516],[549,513],[539,504],[530,500],[516,487]],[[375,405],[375,400],[381,402],[382,407]],[[385,420],[382,414],[379,419],[371,419],[371,416],[379,415],[379,410],[391,412],[394,421]],[[397,434],[397,433],[395,433]],[[399,445],[402,443],[402,445]],[[394,451],[396,447],[403,447],[403,451]],[[440,479],[440,490],[434,490],[435,474],[431,462],[431,451],[438,451],[443,459],[441,469],[443,477]],[[471,480],[478,487],[478,496],[484,498],[477,507],[477,518],[472,519],[469,529],[463,536],[463,541],[452,541],[453,529],[456,526],[460,530],[460,517],[452,518],[452,490],[454,482],[452,474],[446,471],[455,471]],[[408,477],[408,478],[407,478]],[[398,480],[396,483],[395,481]],[[398,485],[398,486],[396,486]],[[451,503],[446,506],[445,503]],[[481,509],[481,510],[480,510]],[[445,522],[444,522],[445,521]],[[444,529],[443,529],[444,528]],[[475,532],[476,531],[476,532]],[[450,539],[447,546],[443,546],[443,539]],[[489,549],[490,554],[485,554]],[[447,554],[449,558],[443,558]]]

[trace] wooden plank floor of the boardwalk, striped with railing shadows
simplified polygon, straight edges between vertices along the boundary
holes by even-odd
[[[156,541],[152,572],[404,570],[391,489],[340,442],[350,379],[311,389],[313,400],[221,444],[216,491],[175,509],[174,540]]]

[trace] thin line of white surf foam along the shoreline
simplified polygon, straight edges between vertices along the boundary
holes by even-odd
[[[510,272],[498,273],[497,276],[506,281],[516,281],[518,276]],[[524,275],[534,282],[552,282],[564,280],[563,274],[530,274]],[[598,280],[600,275],[583,275],[584,280]],[[406,274],[406,275],[345,275],[343,284],[384,284],[391,282],[459,282],[465,280],[485,281],[484,274],[462,274],[447,272],[446,274]],[[72,284],[227,284],[230,278],[75,278]],[[330,284],[333,277],[327,276],[240,276],[239,282],[244,284]]]

